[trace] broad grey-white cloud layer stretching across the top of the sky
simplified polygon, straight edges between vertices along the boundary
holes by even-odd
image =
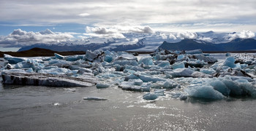
[[[124,21],[132,21],[140,25],[156,24],[157,26],[166,23],[208,23],[210,25],[238,23],[252,25],[256,31],[255,15],[254,0],[109,0],[108,2],[104,0],[50,2],[48,0],[1,0],[0,5],[1,21],[20,25],[56,23],[91,25],[94,23],[116,24]],[[200,26],[202,25],[196,27]],[[147,28],[144,29],[144,32],[147,32]]]

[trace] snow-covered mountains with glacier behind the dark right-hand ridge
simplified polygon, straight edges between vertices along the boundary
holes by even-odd
[[[99,38],[91,37],[88,39],[77,39],[73,41],[61,41],[55,44],[32,44],[22,47],[18,51],[32,49],[34,47],[51,49],[55,51],[86,51],[88,49],[108,49],[113,51],[154,51],[163,41],[167,43],[177,43],[183,39],[193,39],[200,44],[223,44],[234,39],[255,39],[255,33],[243,31],[241,33],[217,33],[208,31],[204,33],[193,32],[163,32],[154,33],[123,33],[124,38]],[[190,46],[187,43],[187,46]],[[215,47],[215,46],[214,46]]]

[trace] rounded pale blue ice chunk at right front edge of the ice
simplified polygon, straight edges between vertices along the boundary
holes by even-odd
[[[192,87],[187,87],[185,92],[189,94],[192,98],[206,98],[206,99],[223,99],[224,95],[217,90],[214,90],[211,86],[205,86],[197,84]]]

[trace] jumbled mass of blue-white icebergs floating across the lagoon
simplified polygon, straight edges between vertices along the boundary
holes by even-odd
[[[226,60],[218,62],[200,49],[157,49],[140,60],[128,52],[108,50],[74,56],[55,54],[47,61],[9,55],[4,58],[10,62],[1,68],[5,84],[96,85],[98,89],[117,86],[141,92],[145,100],[256,97],[254,55],[229,54]],[[94,98],[86,100],[91,99]]]

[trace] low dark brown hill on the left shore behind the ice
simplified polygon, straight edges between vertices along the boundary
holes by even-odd
[[[15,57],[37,57],[37,56],[54,56],[56,51],[50,49],[33,48],[22,52],[0,52],[0,57],[4,57],[4,54],[12,55]],[[86,52],[72,51],[72,52],[56,52],[60,55],[83,55]]]

